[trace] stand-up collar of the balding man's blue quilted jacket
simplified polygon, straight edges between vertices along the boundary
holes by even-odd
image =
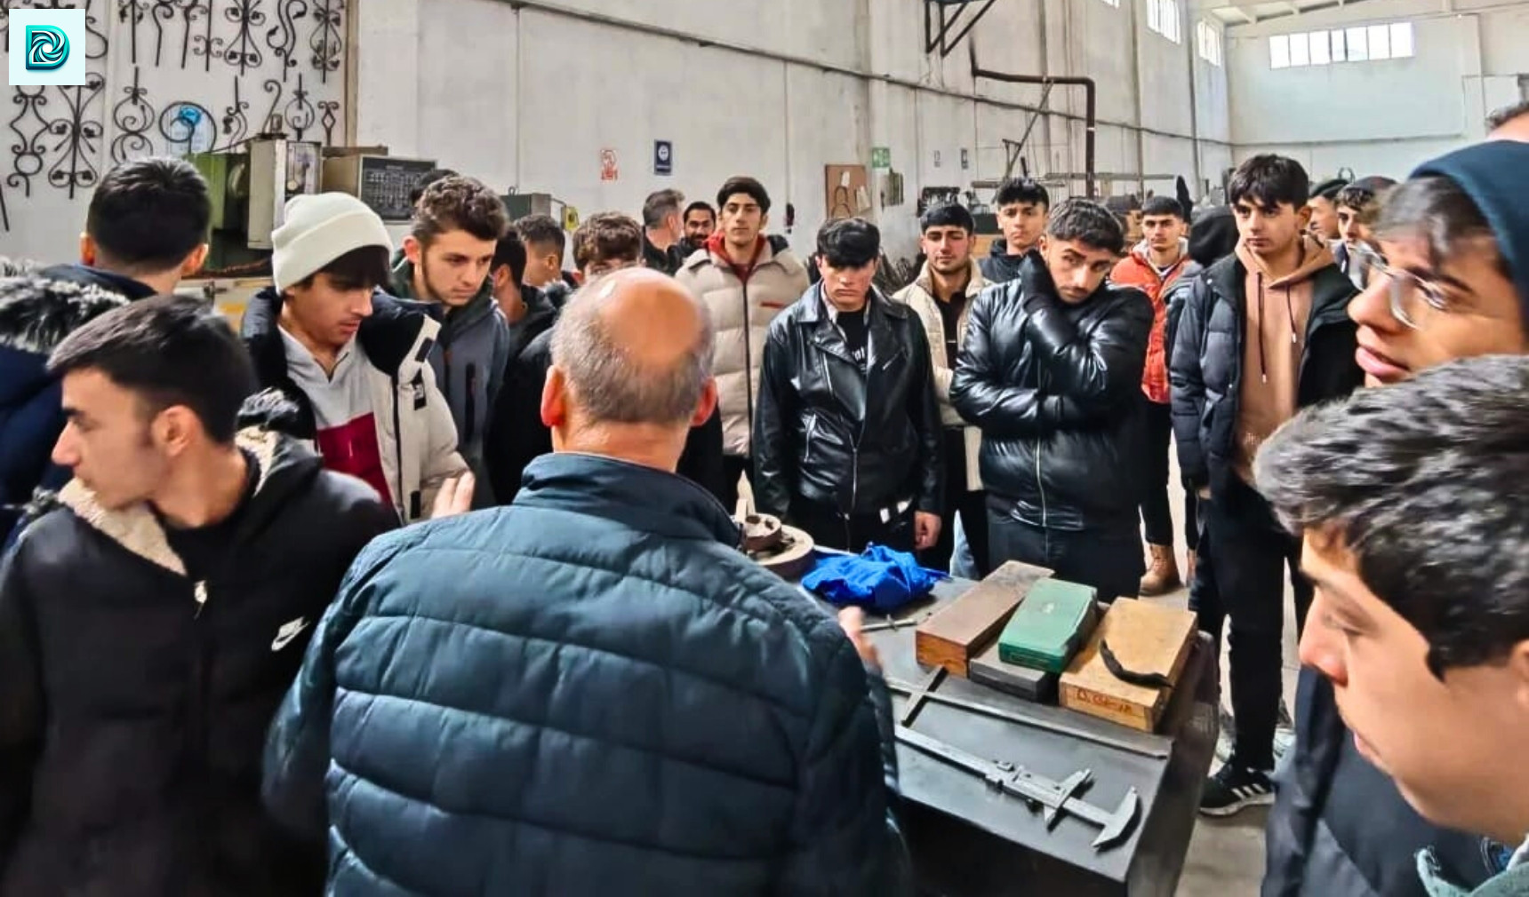
[[[604,455],[552,452],[526,466],[515,506],[604,517],[676,539],[742,542],[722,504],[685,477]]]

